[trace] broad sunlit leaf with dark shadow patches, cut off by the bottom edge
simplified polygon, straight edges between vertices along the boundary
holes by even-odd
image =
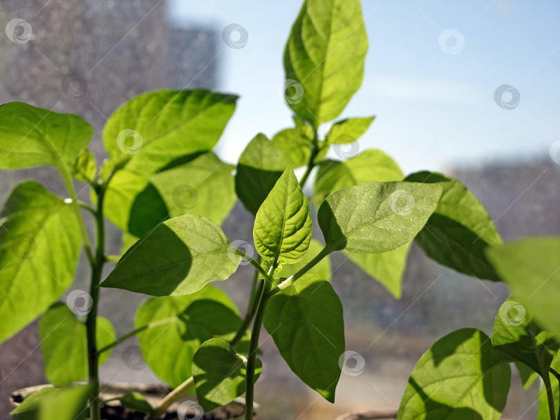
[[[508,360],[479,330],[451,332],[416,363],[397,419],[499,419],[510,390]]]

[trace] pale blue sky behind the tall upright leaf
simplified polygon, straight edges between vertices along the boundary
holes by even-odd
[[[237,23],[248,31],[245,47],[218,46],[218,88],[241,95],[218,146],[228,162],[259,131],[271,136],[292,125],[279,86],[300,7],[281,0],[168,3],[169,16],[183,25],[221,33]],[[408,173],[545,158],[560,140],[558,1],[365,0],[362,8],[370,40],[364,82],[342,114],[377,116],[360,149],[382,149]],[[449,29],[464,38],[457,54],[440,48]],[[453,39],[447,46],[453,52]],[[519,90],[514,109],[494,102],[503,84]]]

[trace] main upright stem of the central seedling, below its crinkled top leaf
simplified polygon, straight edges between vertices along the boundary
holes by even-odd
[[[272,265],[274,267],[274,265]],[[274,272],[274,268],[272,268]],[[270,280],[270,279],[268,279]],[[259,350],[259,335],[261,334],[261,326],[263,325],[264,312],[266,309],[266,304],[270,298],[269,292],[270,287],[272,287],[272,281],[263,282],[263,291],[261,292],[261,298],[259,298],[259,307],[256,309],[256,315],[254,318],[253,329],[251,332],[251,341],[249,344],[249,354],[247,359],[247,376],[245,379],[245,420],[253,419],[253,401],[254,401],[254,370],[256,366],[256,351]]]

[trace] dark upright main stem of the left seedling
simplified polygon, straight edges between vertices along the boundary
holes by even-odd
[[[97,303],[99,301],[99,284],[101,281],[103,265],[105,263],[105,226],[103,220],[104,189],[97,188],[97,209],[95,211],[95,258],[91,267],[91,311],[86,319],[86,334],[88,346],[88,383],[90,386],[89,406],[90,419],[100,420],[101,413],[99,402],[99,353],[97,352]]]

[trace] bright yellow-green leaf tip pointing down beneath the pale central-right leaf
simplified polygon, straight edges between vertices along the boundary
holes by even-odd
[[[353,254],[344,251],[350,259],[368,276],[375,278],[389,292],[400,299],[402,296],[402,276],[407,267],[407,257],[412,242],[381,254]]]

